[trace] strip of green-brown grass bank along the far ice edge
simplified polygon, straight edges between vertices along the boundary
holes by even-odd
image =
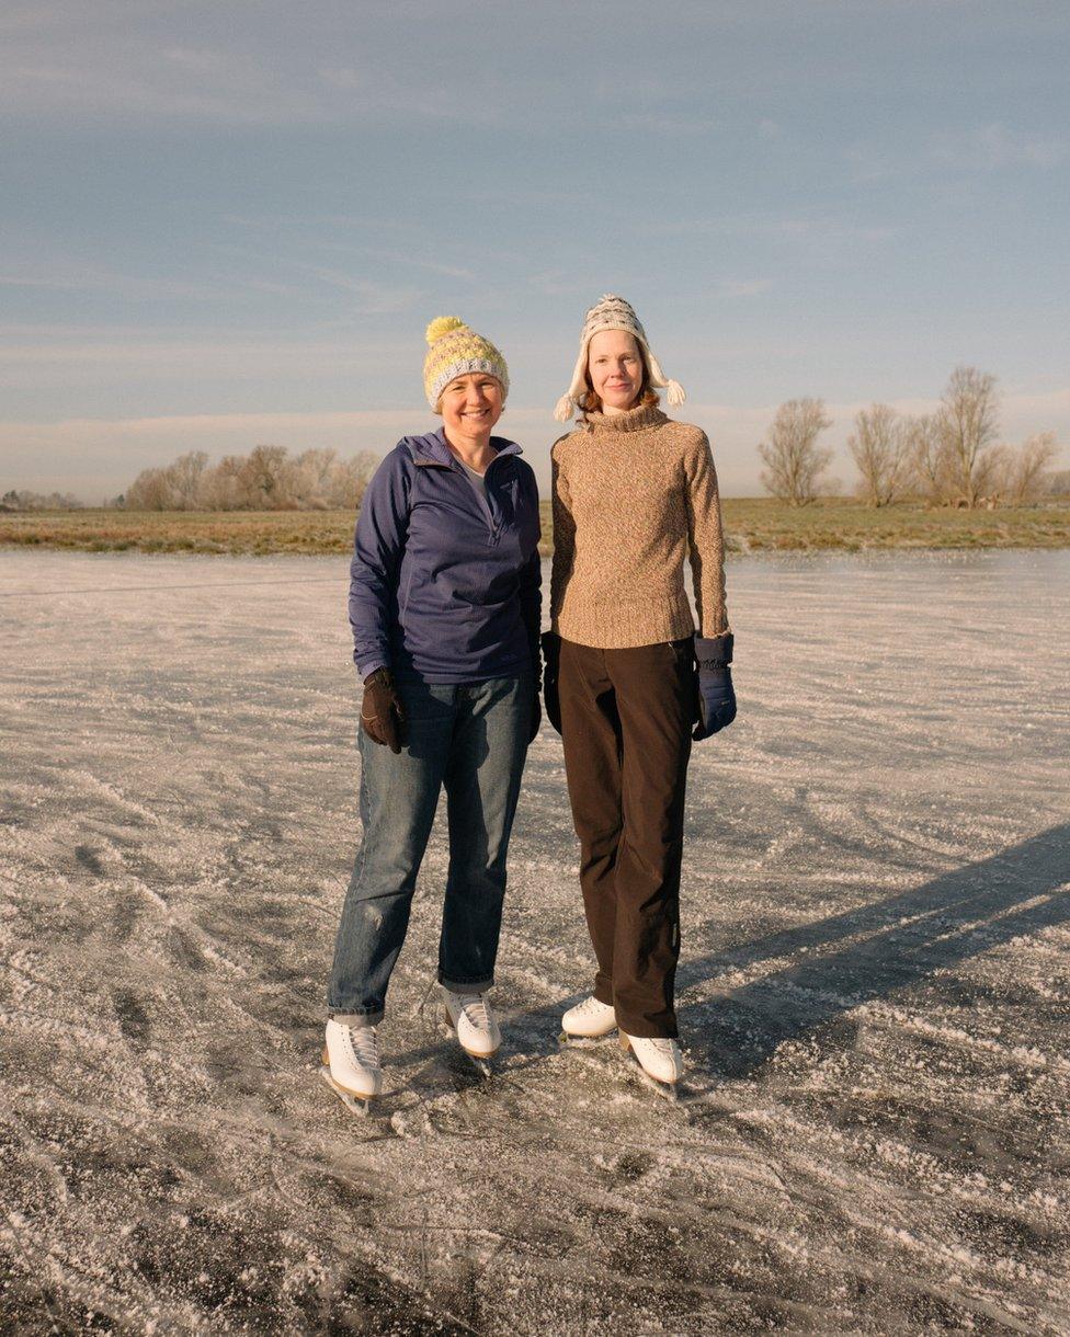
[[[733,552],[873,548],[1070,547],[1070,499],[998,511],[879,511],[845,497],[788,507],[769,497],[724,503]],[[543,503],[543,551],[552,551],[550,504]],[[348,552],[348,511],[43,511],[0,513],[0,545],[80,552],[199,552],[262,555]]]

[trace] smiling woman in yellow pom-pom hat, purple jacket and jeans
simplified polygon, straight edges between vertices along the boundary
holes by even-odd
[[[455,317],[432,321],[428,344],[424,389],[443,425],[404,437],[376,471],[350,567],[364,840],[338,925],[322,1070],[350,1107],[383,1087],[376,1028],[443,786],[445,1015],[473,1058],[502,1043],[486,995],[539,729],[539,495],[519,445],[491,436],[506,360]]]

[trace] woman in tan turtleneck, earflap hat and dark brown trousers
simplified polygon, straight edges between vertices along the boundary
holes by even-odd
[[[554,444],[546,705],[564,743],[598,972],[563,1017],[617,1028],[643,1070],[682,1075],[674,1011],[691,741],[736,715],[717,475],[705,433],[661,412],[666,381],[631,306],[591,308]],[[690,560],[698,630],[683,586]]]

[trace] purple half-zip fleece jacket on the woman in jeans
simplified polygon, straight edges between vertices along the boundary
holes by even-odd
[[[425,682],[486,682],[539,668],[539,491],[520,447],[498,455],[487,497],[440,428],[407,436],[361,503],[349,568],[353,659],[362,677],[413,668]]]

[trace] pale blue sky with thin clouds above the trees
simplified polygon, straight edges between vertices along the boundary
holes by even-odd
[[[726,493],[782,400],[841,445],[960,362],[1067,443],[1067,37],[1062,0],[8,0],[0,485],[385,452],[443,313],[544,481],[605,291]]]

